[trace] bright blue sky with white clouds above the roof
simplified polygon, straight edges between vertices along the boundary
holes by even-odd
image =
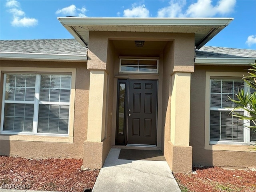
[[[206,45],[256,50],[256,0],[0,0],[0,40],[73,38],[63,16],[234,18]]]

